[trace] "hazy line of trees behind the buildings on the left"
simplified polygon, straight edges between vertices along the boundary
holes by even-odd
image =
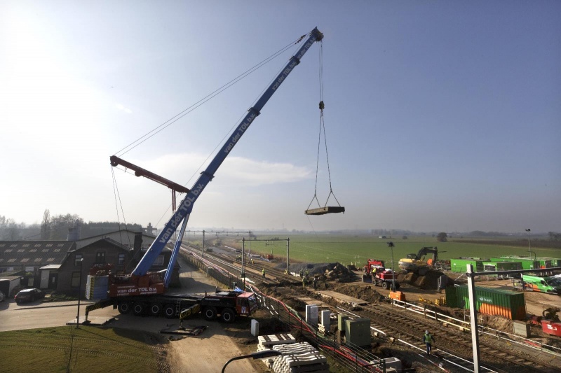
[[[76,214],[60,214],[51,216],[46,209],[40,224],[16,223],[12,218],[0,215],[0,241],[21,240],[65,240],[68,238],[69,228],[79,232],[79,238],[97,236],[116,230],[132,230],[142,232],[140,224],[123,224],[119,222],[84,222]]]

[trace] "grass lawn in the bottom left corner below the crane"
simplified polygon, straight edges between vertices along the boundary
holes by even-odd
[[[141,332],[74,325],[0,332],[1,372],[159,372]]]

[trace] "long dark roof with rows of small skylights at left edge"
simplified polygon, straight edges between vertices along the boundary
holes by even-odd
[[[73,241],[0,241],[0,267],[59,265]]]

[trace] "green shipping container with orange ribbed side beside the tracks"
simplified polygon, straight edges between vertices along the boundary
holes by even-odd
[[[468,286],[456,286],[455,290],[458,308],[469,309]],[[524,293],[475,286],[475,303],[480,314],[503,316],[511,320],[526,318]]]

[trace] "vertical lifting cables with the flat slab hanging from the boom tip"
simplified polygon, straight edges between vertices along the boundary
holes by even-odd
[[[332,184],[331,184],[331,171],[330,171],[330,167],[329,167],[329,154],[327,153],[327,135],[325,134],[325,122],[323,120],[323,108],[325,108],[325,104],[323,104],[323,41],[320,41],[320,73],[319,73],[319,79],[320,79],[320,104],[319,104],[319,108],[320,108],[320,129],[319,129],[319,134],[318,134],[318,155],[316,158],[316,188],[313,191],[313,197],[311,199],[311,202],[308,206],[308,209],[306,209],[305,213],[306,215],[323,215],[325,213],[338,213],[338,212],[345,212],[345,208],[341,206],[341,204],[339,204],[339,200],[337,200],[337,197],[335,197],[334,193],[333,193],[333,189],[332,189]],[[319,171],[319,162],[320,162],[320,144],[321,144],[321,134],[322,134],[322,130],[323,130],[323,143],[325,143],[325,157],[327,159],[327,176],[329,177],[329,195],[327,195],[327,199],[325,200],[325,205],[322,207],[320,205],[320,202],[318,200],[318,171]],[[327,202],[329,202],[330,197],[333,196],[333,198],[335,199],[335,201],[337,202],[337,207],[330,207],[327,206]],[[310,209],[311,204],[313,204],[314,199],[316,200],[316,202],[318,203],[318,206],[320,207],[319,209]]]

